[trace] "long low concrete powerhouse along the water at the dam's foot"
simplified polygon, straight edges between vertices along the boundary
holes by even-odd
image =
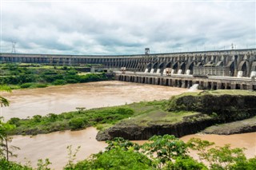
[[[198,84],[198,89],[249,89],[256,90],[255,77],[233,78],[233,77],[168,77],[155,75],[127,75],[117,73],[118,81],[129,81],[150,85],[166,85],[172,87],[190,88]]]

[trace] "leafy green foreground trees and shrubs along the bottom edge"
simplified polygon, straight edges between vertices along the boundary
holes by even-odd
[[[243,148],[214,146],[213,142],[192,138],[187,143],[175,136],[152,136],[149,142],[139,145],[120,137],[106,141],[105,152],[98,152],[86,160],[75,163],[79,148],[72,151],[68,146],[68,162],[64,170],[82,169],[152,169],[152,170],[252,170],[256,157],[246,159]],[[196,151],[200,161],[189,155],[190,149]],[[38,160],[38,167],[22,165],[0,159],[0,169],[10,170],[50,170],[50,160]]]

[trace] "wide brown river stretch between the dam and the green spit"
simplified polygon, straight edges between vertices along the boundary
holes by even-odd
[[[5,120],[11,117],[32,117],[48,113],[74,111],[77,107],[86,109],[125,105],[138,101],[168,99],[188,89],[145,85],[123,81],[99,81],[73,85],[50,86],[43,89],[21,89],[2,93],[10,101],[2,108]]]

